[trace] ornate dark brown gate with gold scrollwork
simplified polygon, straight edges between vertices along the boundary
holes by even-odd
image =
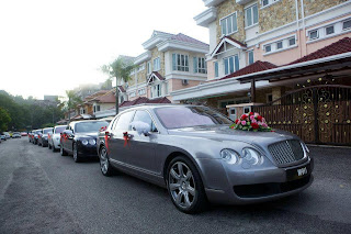
[[[351,145],[350,102],[350,86],[320,85],[252,108],[271,127],[292,132],[306,143]]]

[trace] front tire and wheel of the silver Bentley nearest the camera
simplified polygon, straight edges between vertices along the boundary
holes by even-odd
[[[185,156],[178,156],[167,168],[167,189],[176,208],[193,214],[207,209],[205,189],[195,165]]]

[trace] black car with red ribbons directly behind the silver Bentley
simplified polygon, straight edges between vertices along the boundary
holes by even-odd
[[[101,127],[106,127],[106,121],[77,121],[67,125],[60,133],[60,154],[73,155],[76,163],[83,157],[98,157],[97,136]]]

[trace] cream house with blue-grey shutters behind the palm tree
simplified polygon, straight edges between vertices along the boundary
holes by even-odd
[[[131,80],[118,80],[125,89],[124,101],[165,97],[172,101],[172,91],[206,81],[208,44],[182,33],[154,31],[143,47],[145,52],[133,59],[137,68]]]

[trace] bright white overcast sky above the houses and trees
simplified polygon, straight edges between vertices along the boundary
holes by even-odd
[[[137,56],[154,30],[208,43],[202,0],[1,0],[0,90],[43,99],[99,83],[99,68]]]

